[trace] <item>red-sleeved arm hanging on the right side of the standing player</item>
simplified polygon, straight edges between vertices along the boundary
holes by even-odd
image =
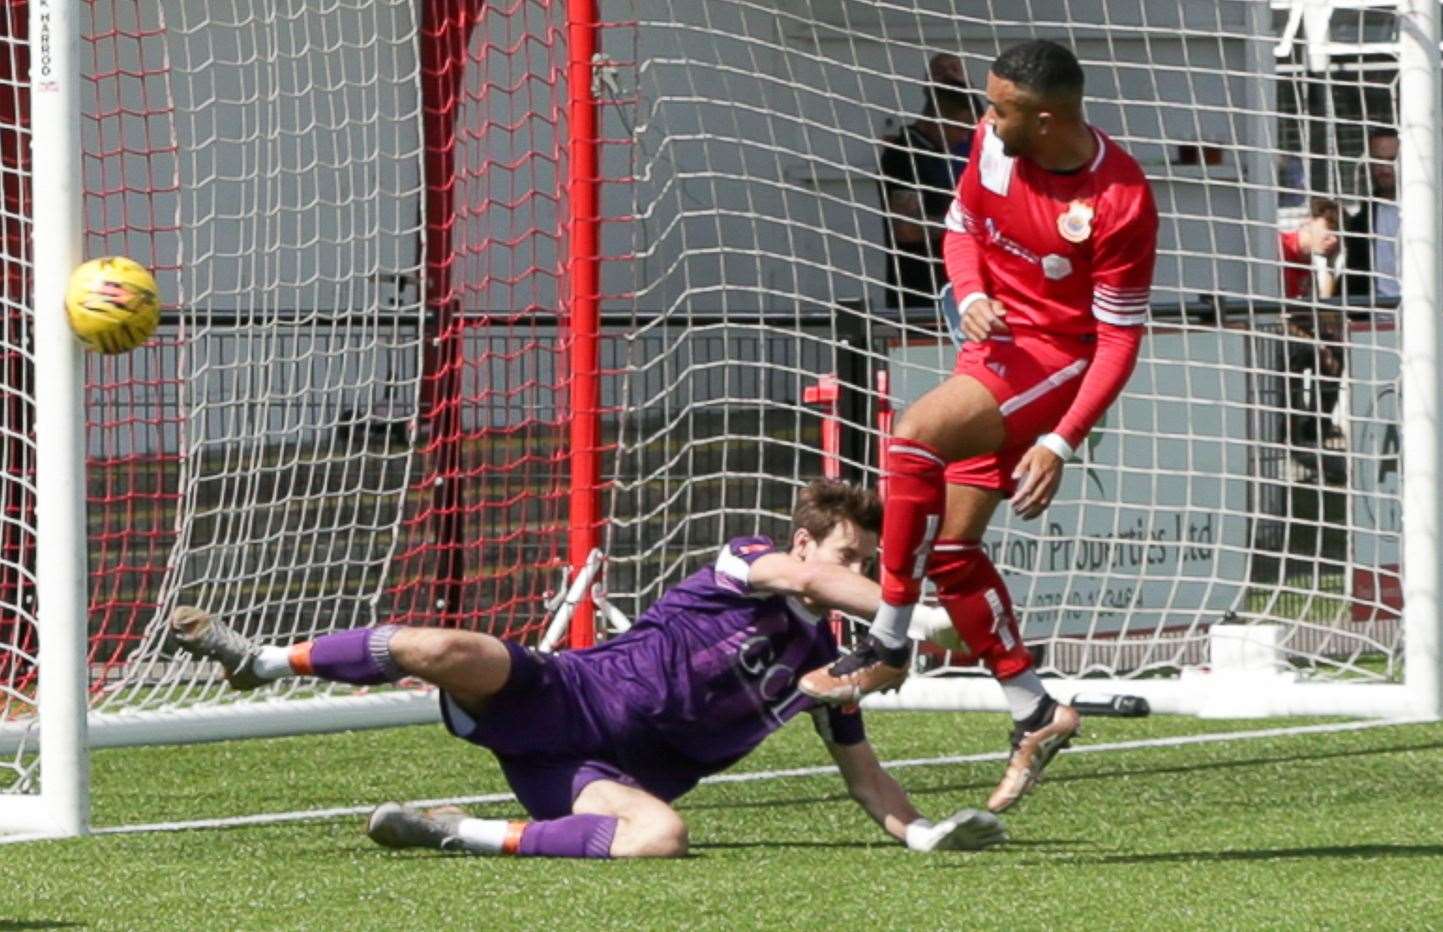
[[[1123,392],[1137,365],[1157,261],[1157,208],[1147,182],[1139,177],[1136,185],[1120,188],[1110,212],[1105,221],[1100,216],[1102,228],[1092,252],[1097,349],[1066,414],[1017,463],[1012,506],[1023,518],[1036,518],[1052,504],[1062,465]]]

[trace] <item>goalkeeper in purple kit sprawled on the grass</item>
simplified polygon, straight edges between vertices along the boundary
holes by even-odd
[[[880,524],[874,493],[812,482],[792,514],[788,550],[736,538],[628,633],[569,654],[395,625],[261,646],[189,606],[175,610],[172,628],[188,651],[218,661],[237,690],[291,675],[356,685],[418,677],[440,688],[446,727],[496,755],[531,821],[388,802],[367,828],[387,847],[680,857],[687,827],[672,801],[801,711],[811,711],[850,795],[887,834],[918,851],[996,844],[1006,835],[988,812],[922,818],[877,763],[860,710],[818,707],[797,690],[802,671],[838,655],[828,610],[877,610],[880,589],[860,570],[877,550]],[[932,635],[932,625],[944,646],[957,646],[942,610],[916,619],[918,636]]]

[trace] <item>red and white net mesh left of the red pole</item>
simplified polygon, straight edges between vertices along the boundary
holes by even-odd
[[[13,726],[35,630],[7,13]],[[232,701],[169,641],[180,603],[281,643],[378,616],[534,638],[567,531],[564,6],[91,0],[81,29],[85,251],[167,300],[144,348],[87,358],[92,708]]]

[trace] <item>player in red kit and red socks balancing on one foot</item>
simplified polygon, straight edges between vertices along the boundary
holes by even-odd
[[[1036,785],[1079,720],[1033,671],[983,532],[1004,498],[1023,518],[1042,514],[1062,465],[1127,382],[1147,320],[1157,209],[1137,162],[1082,118],[1082,68],[1065,46],[1007,49],[987,75],[987,102],[942,247],[968,342],[889,447],[883,605],[872,629],[799,688],[847,704],[899,685],[908,623],[931,579],[1012,710],[1013,753],[987,802],[1001,811]]]

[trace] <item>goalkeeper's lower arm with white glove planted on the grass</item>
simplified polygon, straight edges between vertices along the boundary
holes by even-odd
[[[823,710],[818,713],[825,714]],[[827,742],[827,750],[857,805],[883,831],[913,851],[977,850],[1007,838],[1001,821],[990,812],[961,809],[941,822],[922,818],[902,785],[882,769],[866,740],[851,744]]]

